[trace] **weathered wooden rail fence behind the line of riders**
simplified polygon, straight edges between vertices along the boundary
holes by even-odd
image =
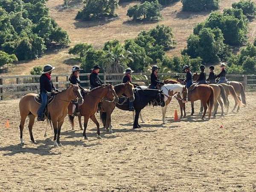
[[[122,73],[99,73],[105,83],[112,84],[122,83],[123,75]],[[177,75],[185,76],[184,73],[159,73],[158,75],[160,79],[174,78]],[[85,79],[81,80],[81,83],[87,88],[89,86],[89,76],[90,73],[80,74],[80,78]],[[150,81],[150,74],[148,73],[133,73],[133,76],[136,77],[133,79],[134,82],[148,84]],[[39,77],[40,75],[0,76],[0,100],[20,98],[27,93],[38,93]],[[68,79],[68,74],[52,75],[53,84],[59,89],[68,86]],[[243,83],[246,90],[256,90],[256,75],[227,75],[227,79]]]

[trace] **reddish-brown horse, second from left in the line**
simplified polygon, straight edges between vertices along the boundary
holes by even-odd
[[[101,100],[107,101],[107,102],[119,101],[118,96],[116,95],[116,92],[114,90],[114,87],[111,84],[101,85],[99,87],[96,87],[90,90],[88,94],[84,95],[84,103],[83,105],[80,106],[80,113],[81,113],[81,116],[84,116],[83,137],[85,140],[88,140],[88,137],[86,135],[86,128],[87,128],[89,118],[96,124],[97,138],[101,139],[100,131],[99,131],[99,122],[95,117],[95,113],[98,109],[98,104]],[[74,126],[74,116],[72,116],[73,114],[72,111],[70,110],[68,114],[69,114],[70,124],[71,126]]]

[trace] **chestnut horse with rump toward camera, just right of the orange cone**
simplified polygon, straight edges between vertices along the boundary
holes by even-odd
[[[196,100],[201,100],[204,106],[204,114],[201,119],[204,119],[205,113],[207,111],[207,105],[209,107],[209,119],[212,113],[212,107],[214,105],[214,90],[211,86],[207,84],[199,84],[194,87],[194,89],[189,90],[188,100],[191,102],[192,112],[191,115],[194,115],[194,102]]]

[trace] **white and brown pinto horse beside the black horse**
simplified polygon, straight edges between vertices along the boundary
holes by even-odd
[[[172,96],[174,96],[177,101],[179,102],[180,105],[180,118],[183,116],[183,110],[184,110],[184,117],[186,116],[186,108],[185,108],[185,103],[187,102],[187,89],[185,85],[182,84],[164,84],[160,88],[165,96],[165,106],[162,107],[162,113],[163,113],[163,124],[166,124],[165,116],[166,116],[166,110],[167,110],[167,105],[172,100]],[[181,96],[183,98],[181,99]]]

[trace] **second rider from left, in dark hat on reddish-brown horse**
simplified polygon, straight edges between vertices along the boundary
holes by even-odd
[[[80,70],[83,70],[83,69],[80,69],[79,66],[72,67],[72,70],[70,71],[72,73],[70,75],[69,80],[70,80],[71,84],[78,84],[81,91],[84,91],[84,88],[81,87],[81,85],[80,85],[80,79],[79,79]],[[73,108],[75,108],[74,115],[79,115],[80,112],[79,112],[78,103],[77,102],[72,102],[72,103],[73,103]]]

